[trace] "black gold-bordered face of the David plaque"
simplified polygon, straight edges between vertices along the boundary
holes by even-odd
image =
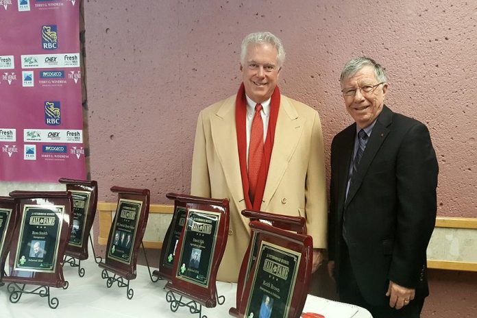
[[[188,210],[177,278],[208,287],[220,218],[217,212]]]

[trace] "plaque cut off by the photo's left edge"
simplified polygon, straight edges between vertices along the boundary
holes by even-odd
[[[0,286],[5,273],[5,262],[16,222],[15,201],[11,197],[0,197]]]

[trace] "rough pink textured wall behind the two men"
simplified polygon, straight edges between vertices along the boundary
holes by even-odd
[[[169,203],[169,191],[189,191],[197,114],[236,93],[241,40],[267,30],[287,54],[282,93],[321,114],[327,164],[332,137],[352,122],[339,73],[350,58],[370,56],[387,69],[388,106],[430,129],[441,171],[439,215],[477,217],[475,1],[88,0],[84,6],[90,171],[101,200],[112,200],[113,184],[149,188],[154,203]],[[463,299],[477,277],[431,274],[424,317],[448,317],[434,313],[444,308],[471,317],[475,305],[469,311]],[[441,302],[448,289],[452,304]]]

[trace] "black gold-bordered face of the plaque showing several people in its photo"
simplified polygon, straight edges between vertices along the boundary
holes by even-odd
[[[109,258],[130,264],[142,206],[142,201],[119,199],[117,215],[114,217],[114,237],[108,249]]]

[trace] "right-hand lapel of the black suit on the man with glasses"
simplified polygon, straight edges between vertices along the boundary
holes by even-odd
[[[345,208],[350,201],[353,199],[354,195],[356,195],[356,191],[360,187],[369,165],[373,161],[374,157],[378,153],[382,143],[386,139],[387,135],[389,134],[389,125],[391,125],[393,112],[386,106],[382,106],[382,111],[378,116],[378,120],[376,120],[376,124],[373,127],[373,132],[371,132],[371,136],[369,136],[369,140],[366,144],[365,152],[363,152],[363,157],[361,158],[358,166],[358,170],[356,171],[356,175],[354,175],[354,180],[350,185],[350,190],[348,191],[347,199]],[[348,166],[349,167],[349,166]]]

